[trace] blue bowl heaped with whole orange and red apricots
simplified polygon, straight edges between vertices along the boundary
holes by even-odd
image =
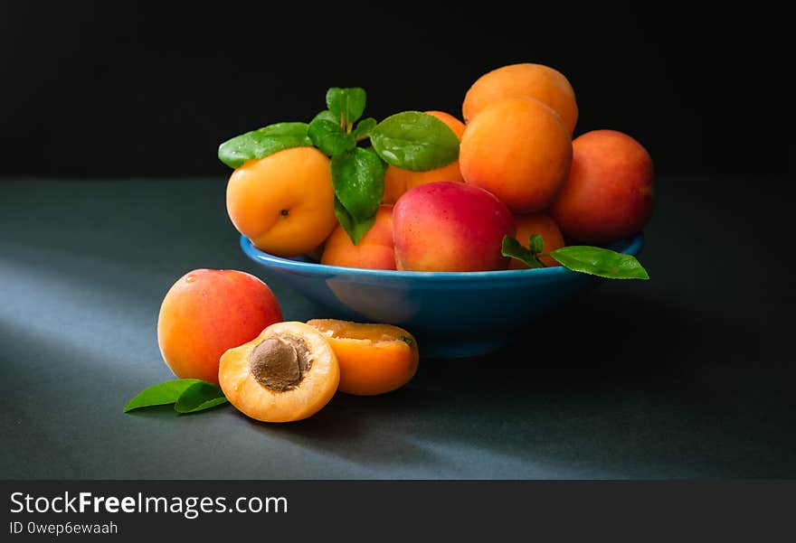
[[[329,315],[411,330],[430,357],[494,350],[611,276],[562,266],[555,249],[640,251],[652,160],[619,131],[573,139],[578,106],[562,73],[533,63],[489,71],[453,113],[403,112],[378,124],[331,114],[329,126],[354,135],[337,149],[313,137],[324,112],[309,123],[311,145],[251,159],[251,145],[224,143],[242,250]],[[381,184],[369,192],[373,178]],[[535,234],[542,266],[528,269],[503,240],[528,248]]]

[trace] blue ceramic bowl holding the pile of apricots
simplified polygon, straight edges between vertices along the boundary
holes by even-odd
[[[637,255],[641,234],[611,245]],[[326,266],[274,257],[241,237],[243,252],[327,308],[318,318],[392,323],[412,332],[422,356],[472,356],[511,342],[534,319],[604,279],[564,267],[411,272]]]

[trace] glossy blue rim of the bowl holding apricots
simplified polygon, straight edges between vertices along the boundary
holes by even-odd
[[[642,247],[644,247],[644,233],[639,232],[630,238],[621,239],[609,245],[609,247],[617,250],[625,255],[638,255]],[[251,259],[261,262],[269,267],[277,267],[296,272],[305,273],[326,273],[334,275],[348,275],[348,276],[362,276],[362,277],[382,277],[382,278],[396,278],[396,279],[500,279],[500,278],[520,278],[531,276],[566,276],[574,274],[563,266],[556,267],[537,267],[537,268],[524,268],[524,269],[500,269],[491,271],[475,271],[475,272],[422,272],[422,271],[404,271],[394,269],[369,269],[363,267],[342,267],[342,266],[329,266],[328,264],[320,264],[310,262],[308,260],[277,257],[271,255],[259,248],[256,248],[251,242],[251,239],[241,235],[241,248],[243,252]],[[300,258],[300,257],[299,257]]]

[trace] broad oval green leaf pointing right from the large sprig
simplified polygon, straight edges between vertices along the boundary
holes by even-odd
[[[387,164],[422,172],[459,158],[459,137],[437,117],[404,111],[385,118],[370,134],[376,153]]]

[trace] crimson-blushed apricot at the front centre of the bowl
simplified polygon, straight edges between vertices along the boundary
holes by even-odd
[[[514,220],[494,194],[466,183],[438,182],[407,191],[393,207],[395,265],[412,271],[506,269],[503,236]]]

